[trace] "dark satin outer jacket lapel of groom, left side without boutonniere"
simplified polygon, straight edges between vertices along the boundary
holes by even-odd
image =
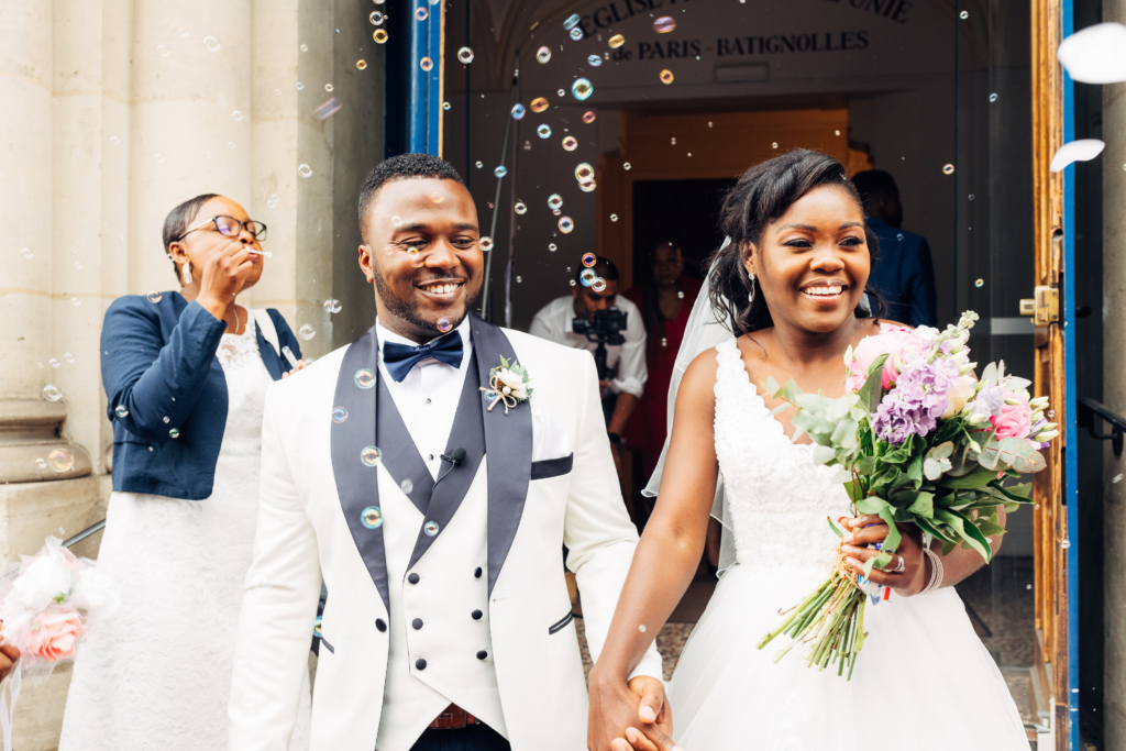
[[[325,414],[324,419],[332,420],[330,432],[332,475],[337,482],[337,495],[340,498],[345,521],[348,524],[348,529],[364,558],[372,581],[379,590],[383,606],[387,613],[391,613],[383,525],[381,521],[379,526],[370,529],[360,521],[365,509],[368,507],[379,508],[377,470],[360,461],[360,454],[366,447],[378,446],[375,436],[377,390],[374,387],[379,373],[376,364],[378,351],[374,327],[352,342],[340,364],[333,399],[333,410],[343,408],[347,410],[347,417],[342,422],[337,421],[336,414]],[[372,374],[373,387],[370,388],[361,388],[356,383],[356,374],[363,369],[367,369]]]

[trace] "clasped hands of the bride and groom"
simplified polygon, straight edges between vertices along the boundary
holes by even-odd
[[[626,683],[601,678],[597,667],[591,671],[589,751],[681,751],[671,732],[672,710],[661,681],[637,676]]]

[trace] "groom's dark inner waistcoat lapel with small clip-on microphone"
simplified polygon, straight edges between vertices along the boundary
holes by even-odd
[[[434,493],[430,497],[430,507],[422,511],[426,515],[426,521],[422,524],[422,529],[419,529],[419,536],[414,542],[414,551],[411,553],[411,562],[406,566],[408,569],[418,563],[419,558],[430,548],[434,540],[445,534],[446,526],[454,518],[454,515],[457,513],[457,509],[462,504],[466,491],[470,490],[473,479],[477,475],[477,468],[481,466],[481,457],[485,455],[484,424],[481,419],[480,408],[481,390],[479,387],[480,382],[477,381],[477,367],[475,363],[476,345],[474,345],[473,352],[470,356],[470,364],[465,370],[462,396],[457,402],[457,413],[454,415],[454,424],[449,430],[449,439],[446,444],[446,456],[449,456],[455,448],[461,448],[465,452],[465,459],[463,459],[461,465],[453,468],[450,468],[447,462],[443,462],[441,467],[438,470],[440,481],[434,488]],[[438,366],[434,365],[430,367]],[[425,466],[423,471],[426,471]],[[427,471],[427,480],[429,479],[430,473]],[[438,525],[438,531],[434,536],[426,534],[426,527],[431,521]]]

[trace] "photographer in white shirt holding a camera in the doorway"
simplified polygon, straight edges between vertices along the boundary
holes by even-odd
[[[579,263],[575,277],[571,281],[571,294],[556,297],[544,305],[531,320],[528,333],[572,349],[595,352],[598,345],[586,334],[575,333],[574,320],[586,319],[588,323],[593,323],[596,313],[610,309],[617,309],[625,314],[626,325],[622,331],[625,343],[606,346],[607,372],[598,374],[602,390],[602,410],[606,413],[606,430],[610,437],[610,452],[614,454],[614,465],[620,477],[622,431],[645,392],[645,381],[649,377],[645,369],[645,324],[637,306],[618,295],[618,267],[614,261],[597,257],[590,268],[596,275],[595,283],[589,286],[586,284],[583,274],[587,267]],[[598,283],[599,279],[601,284]],[[672,354],[676,356],[676,350]]]

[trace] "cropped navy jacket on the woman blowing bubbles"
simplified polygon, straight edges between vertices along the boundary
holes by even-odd
[[[285,319],[268,312],[279,347],[300,358]],[[254,329],[262,363],[278,381],[289,363]],[[155,303],[118,297],[106,311],[101,383],[114,424],[115,491],[190,501],[212,494],[226,429],[226,377],[215,357],[225,331],[225,322],[178,292]]]

